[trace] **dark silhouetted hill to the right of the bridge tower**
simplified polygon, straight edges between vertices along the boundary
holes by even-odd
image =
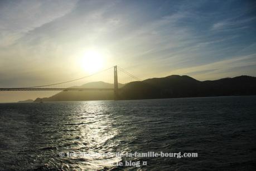
[[[143,89],[143,86],[146,89]],[[120,91],[121,99],[256,95],[256,77],[238,76],[215,81],[198,81],[183,75],[130,82]]]

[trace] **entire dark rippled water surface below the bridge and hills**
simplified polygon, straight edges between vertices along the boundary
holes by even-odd
[[[254,170],[255,140],[256,96],[0,104],[0,170]],[[113,165],[125,160],[147,166]]]

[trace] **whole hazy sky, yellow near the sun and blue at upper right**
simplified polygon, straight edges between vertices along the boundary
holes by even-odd
[[[1,0],[0,87],[89,75],[88,52],[100,55],[97,70],[118,65],[142,80],[256,76],[255,7],[255,1]],[[52,93],[0,92],[0,102]]]

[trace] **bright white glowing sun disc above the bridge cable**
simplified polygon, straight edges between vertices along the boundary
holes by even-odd
[[[99,71],[103,67],[103,54],[97,51],[87,51],[81,64],[84,70],[90,74]]]

